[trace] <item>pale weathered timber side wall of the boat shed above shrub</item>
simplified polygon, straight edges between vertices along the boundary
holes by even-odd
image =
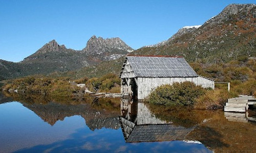
[[[185,81],[193,82],[203,88],[214,89],[214,81],[201,76],[194,78],[138,78],[138,99],[144,99],[151,91],[161,85],[172,85],[175,82],[181,83]]]

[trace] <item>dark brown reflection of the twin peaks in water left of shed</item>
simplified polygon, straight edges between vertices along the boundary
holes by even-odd
[[[103,127],[108,129],[119,129],[120,127],[119,112],[97,111],[89,104],[64,105],[50,102],[46,105],[27,103],[23,103],[23,105],[51,125],[65,117],[80,115],[86,120],[86,124],[92,131]]]

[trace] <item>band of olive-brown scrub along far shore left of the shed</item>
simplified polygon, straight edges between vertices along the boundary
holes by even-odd
[[[86,87],[78,87],[77,84],[86,84]],[[106,74],[100,78],[80,78],[72,80],[68,77],[26,77],[8,80],[2,87],[5,92],[17,92],[27,95],[41,94],[60,101],[66,97],[76,98],[83,96],[88,88],[92,92],[120,93],[120,79],[115,74]]]

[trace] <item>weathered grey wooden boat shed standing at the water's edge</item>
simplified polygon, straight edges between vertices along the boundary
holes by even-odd
[[[201,77],[182,57],[126,56],[120,72],[121,94],[145,98],[164,84],[194,82],[204,88],[214,89],[214,80]]]

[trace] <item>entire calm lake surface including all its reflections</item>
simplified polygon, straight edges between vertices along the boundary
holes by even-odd
[[[120,98],[68,105],[0,97],[0,152],[256,151],[256,124],[222,111],[168,110]]]

